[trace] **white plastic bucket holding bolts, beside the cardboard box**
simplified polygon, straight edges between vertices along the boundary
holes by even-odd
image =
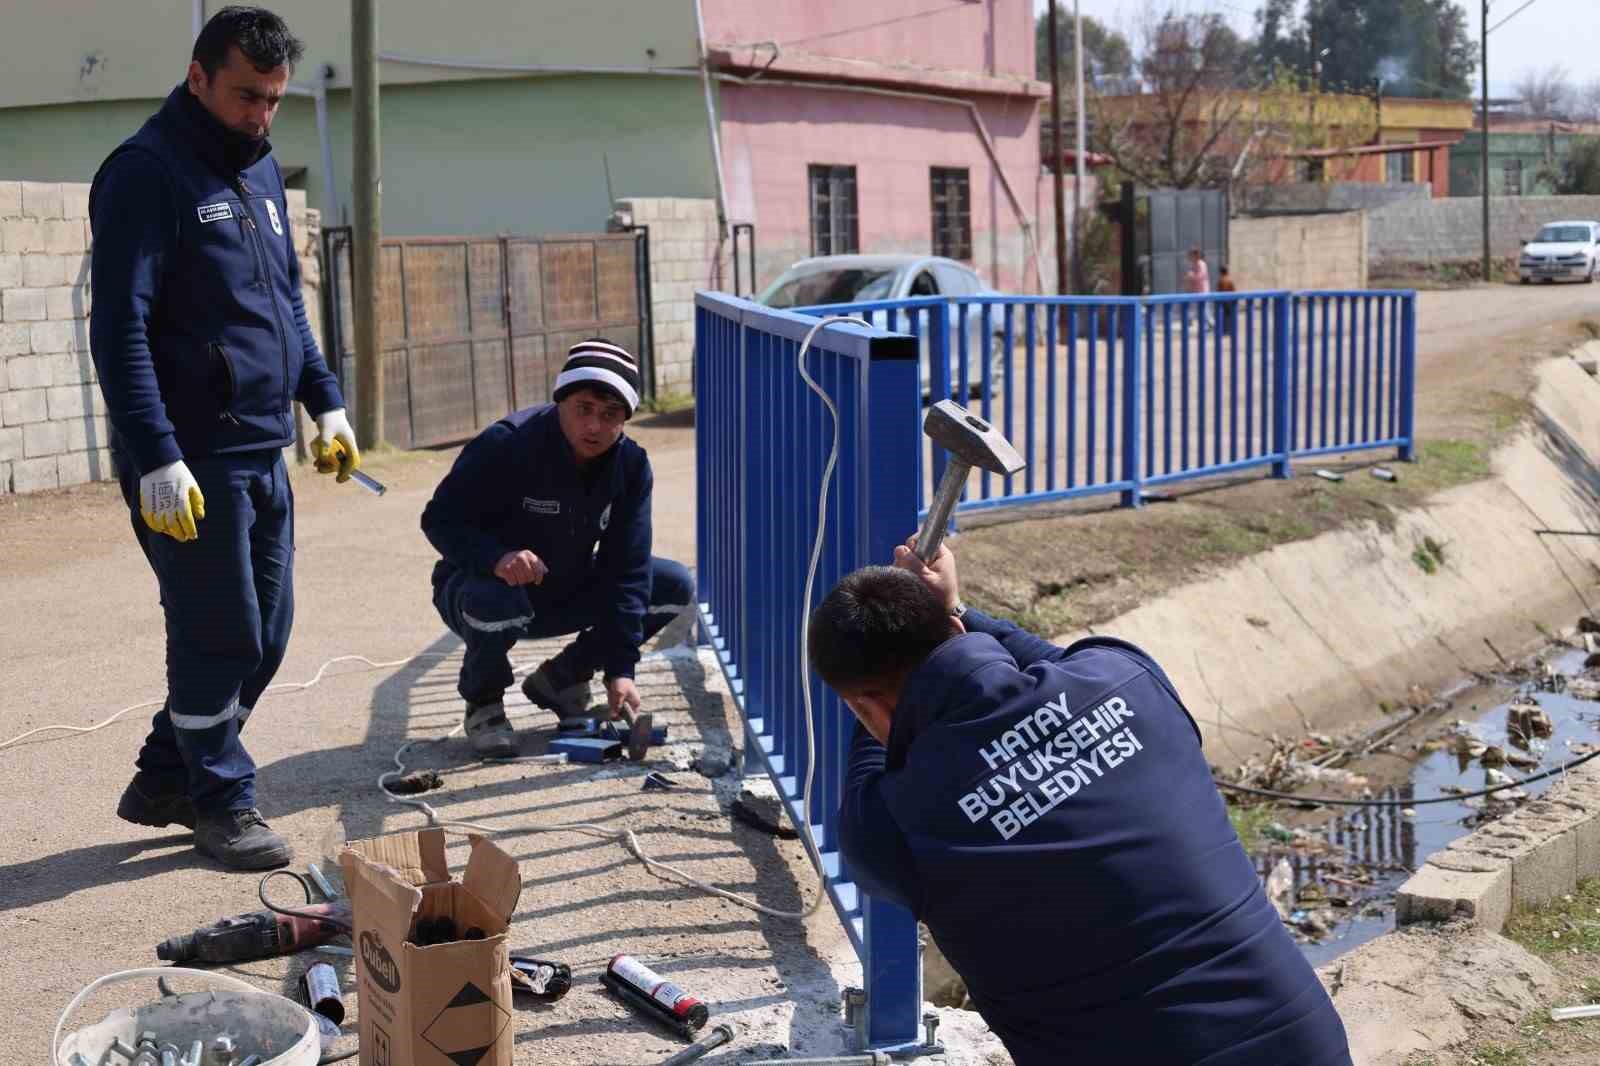
[[[101,988],[158,976],[198,978],[221,989],[165,996],[142,1007],[123,1007],[106,1015],[104,1021],[69,1032],[66,1039],[61,1037],[72,1013]],[[211,1042],[224,1032],[238,1048],[235,1058],[261,1055],[261,1066],[317,1066],[317,1060],[322,1058],[317,1021],[299,1004],[262,992],[226,973],[149,967],[102,976],[78,992],[61,1012],[56,1031],[50,1037],[51,1061],[56,1066],[72,1066],[74,1055],[82,1055],[90,1066],[96,1066],[104,1061],[114,1040],[134,1047],[141,1032],[155,1032],[158,1045],[173,1044],[179,1055],[187,1055],[194,1042],[202,1040],[203,1066],[216,1061]],[[114,1056],[112,1061],[122,1060]]]

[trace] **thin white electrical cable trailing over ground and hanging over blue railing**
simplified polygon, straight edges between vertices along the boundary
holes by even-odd
[[[406,807],[414,807],[416,810],[419,810],[427,818],[427,823],[430,826],[437,826],[440,829],[446,829],[446,831],[453,831],[453,832],[459,832],[459,834],[499,836],[499,834],[504,834],[504,832],[579,832],[579,834],[586,834],[586,836],[590,836],[590,837],[598,837],[602,840],[616,840],[618,844],[621,844],[622,847],[626,847],[634,855],[634,858],[637,858],[640,863],[643,863],[648,869],[651,869],[658,876],[669,876],[672,879],[677,879],[680,884],[685,884],[685,885],[688,885],[691,888],[699,888],[701,892],[706,892],[706,893],[710,893],[710,895],[718,896],[722,900],[726,900],[728,903],[736,903],[741,908],[749,908],[750,911],[757,911],[758,914],[766,914],[768,917],[792,919],[792,920],[802,920],[802,922],[805,919],[811,917],[813,914],[816,914],[816,911],[822,906],[822,901],[827,898],[827,890],[821,884],[821,877],[822,877],[822,855],[821,855],[821,848],[818,847],[816,837],[811,832],[811,783],[813,783],[813,778],[816,776],[816,723],[811,719],[811,667],[810,667],[810,663],[806,661],[806,651],[808,651],[808,643],[806,643],[806,621],[808,621],[810,611],[811,611],[811,592],[813,592],[814,584],[816,584],[816,570],[818,570],[818,563],[819,563],[819,560],[822,557],[822,538],[824,538],[824,533],[827,531],[827,490],[829,490],[829,485],[830,485],[830,482],[834,479],[834,469],[838,466],[838,408],[834,405],[834,400],[827,395],[827,392],[822,391],[822,387],[806,371],[806,368],[805,368],[805,357],[811,351],[811,341],[816,338],[818,331],[822,330],[824,327],[829,327],[829,325],[834,325],[834,323],[838,323],[838,322],[851,322],[854,325],[869,325],[867,322],[864,322],[861,319],[856,319],[856,317],[850,317],[850,315],[829,315],[826,319],[821,319],[805,335],[805,341],[802,341],[800,352],[795,357],[795,365],[797,365],[797,368],[800,371],[800,378],[803,378],[805,383],[806,383],[806,386],[813,392],[816,392],[818,397],[821,397],[821,400],[827,407],[827,413],[829,413],[829,416],[832,418],[832,423],[834,423],[834,442],[832,442],[832,447],[829,448],[827,463],[822,467],[822,485],[818,490],[816,538],[811,541],[811,562],[806,567],[805,594],[803,594],[802,602],[800,602],[800,695],[802,695],[802,706],[805,709],[805,741],[806,741],[805,789],[802,792],[802,800],[800,800],[802,802],[802,808],[800,808],[800,821],[802,821],[800,829],[802,829],[802,834],[800,834],[800,839],[805,844],[806,853],[811,856],[811,861],[813,861],[813,864],[816,868],[816,872],[818,872],[818,892],[813,896],[811,903],[803,911],[779,911],[778,908],[770,908],[770,906],[757,903],[755,900],[750,900],[747,896],[741,896],[741,895],[728,892],[725,888],[718,888],[715,885],[706,884],[704,880],[694,877],[693,874],[690,874],[690,872],[686,872],[686,871],[683,871],[683,869],[680,869],[677,866],[672,866],[670,863],[662,863],[661,860],[651,858],[645,852],[645,848],[638,844],[638,837],[634,834],[632,829],[621,829],[621,831],[618,831],[618,829],[608,829],[606,826],[598,826],[598,824],[584,823],[584,821],[544,823],[544,824],[522,826],[518,829],[501,829],[501,828],[496,828],[496,826],[485,826],[482,823],[454,821],[454,820],[450,820],[450,818],[442,818],[438,815],[438,812],[430,804],[427,804],[424,800],[419,800],[419,799],[411,799],[408,795],[397,795],[395,792],[389,791],[389,781],[392,778],[405,775],[405,771],[406,771],[405,754],[408,751],[411,751],[411,747],[414,747],[418,744],[437,744],[438,741],[450,739],[450,738],[453,738],[453,736],[456,736],[456,735],[459,735],[462,731],[462,727],[459,727],[459,725],[456,728],[453,728],[450,733],[446,733],[445,736],[437,736],[437,738],[430,738],[430,739],[406,741],[405,744],[400,746],[398,751],[395,751],[395,754],[394,754],[395,768],[394,770],[386,770],[384,773],[381,773],[378,776],[378,787],[379,787],[379,791],[382,791],[384,795],[389,797],[389,802],[392,802],[392,804],[403,804]],[[426,659],[426,658],[448,658],[448,655],[450,653],[443,653],[443,651],[424,651],[421,655],[413,655],[413,656],[403,658],[403,659],[390,659],[390,661],[386,661],[386,663],[374,663],[373,659],[370,659],[370,658],[366,658],[363,655],[341,655],[341,656],[331,658],[326,663],[323,663],[322,667],[317,671],[317,674],[310,680],[306,680],[306,682],[285,682],[285,683],[272,685],[262,695],[277,693],[277,691],[302,691],[306,688],[310,688],[312,685],[315,685],[317,682],[320,682],[323,679],[323,674],[326,674],[328,667],[333,666],[334,663],[363,663],[368,669],[392,669],[392,667],[408,666],[411,663],[416,663],[416,661]],[[5,741],[3,744],[0,744],[0,751],[5,751],[6,747],[10,747],[13,744],[19,744],[24,739],[27,739],[29,736],[34,736],[37,733],[48,733],[48,731],[56,731],[56,730],[67,731],[67,733],[77,733],[77,735],[94,733],[98,730],[106,728],[107,725],[110,725],[112,722],[115,722],[117,719],[120,719],[122,715],[125,715],[125,714],[128,714],[131,711],[139,711],[139,709],[147,709],[147,707],[158,707],[158,706],[162,706],[162,703],[163,701],[160,701],[160,699],[149,699],[146,703],[136,703],[131,707],[123,707],[122,711],[118,711],[117,714],[110,715],[109,719],[106,719],[102,722],[98,722],[94,725],[88,725],[88,727],[78,727],[78,725],[42,725],[37,730],[29,730],[27,733],[22,733],[21,736],[14,736],[14,738]],[[522,715],[512,715],[512,717],[522,717]],[[496,763],[514,763],[514,762],[552,763],[552,762],[565,762],[565,760],[566,760],[565,755],[522,755],[518,759],[496,759],[494,762]],[[488,763],[485,763],[485,765],[488,765]]]

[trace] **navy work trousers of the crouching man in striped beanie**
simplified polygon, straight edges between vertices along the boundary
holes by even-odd
[[[680,562],[653,555],[640,643],[683,613],[693,595],[694,579],[688,568]],[[510,650],[518,640],[578,634],[550,661],[550,680],[557,688],[592,679],[605,666],[610,651],[597,635],[595,626],[614,603],[586,589],[578,589],[570,600],[541,605],[536,610],[526,587],[440,563],[434,570],[434,607],[450,631],[467,645],[458,691],[462,699],[475,706],[498,703],[510,688],[515,680]]]

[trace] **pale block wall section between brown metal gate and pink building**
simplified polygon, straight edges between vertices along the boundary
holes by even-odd
[[[616,208],[650,227],[650,303],[656,330],[656,392],[688,392],[694,368],[694,293],[733,290],[731,245],[717,254],[717,203],[632,197]]]

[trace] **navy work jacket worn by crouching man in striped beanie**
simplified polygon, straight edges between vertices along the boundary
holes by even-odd
[[[491,576],[531,551],[549,575],[523,586],[534,616],[579,597],[598,603],[605,675],[632,677],[650,597],[650,456],[622,437],[579,471],[554,403],[499,419],[462,448],[422,509],[422,533],[451,570]]]

